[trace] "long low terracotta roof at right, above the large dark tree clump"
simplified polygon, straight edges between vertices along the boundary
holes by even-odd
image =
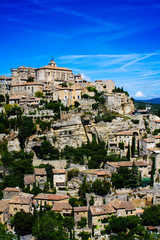
[[[135,161],[134,162],[137,167],[147,167],[148,164],[145,161]],[[119,167],[132,167],[132,161],[121,161],[121,162],[107,162],[108,165],[114,166],[115,168]]]

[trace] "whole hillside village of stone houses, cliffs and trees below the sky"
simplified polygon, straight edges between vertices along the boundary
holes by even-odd
[[[53,59],[0,76],[8,239],[160,239],[159,179],[160,118],[123,87]]]

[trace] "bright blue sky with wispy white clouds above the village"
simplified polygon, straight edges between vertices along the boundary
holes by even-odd
[[[1,0],[0,75],[58,66],[160,97],[160,1]]]

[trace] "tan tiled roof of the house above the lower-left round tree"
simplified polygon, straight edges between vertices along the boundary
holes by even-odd
[[[28,205],[34,195],[28,193],[20,193],[18,196],[13,196],[9,204],[24,204]]]

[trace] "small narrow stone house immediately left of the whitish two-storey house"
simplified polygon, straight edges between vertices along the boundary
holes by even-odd
[[[47,172],[45,168],[34,168],[34,175],[36,184],[39,188],[43,189],[44,184],[47,182]]]

